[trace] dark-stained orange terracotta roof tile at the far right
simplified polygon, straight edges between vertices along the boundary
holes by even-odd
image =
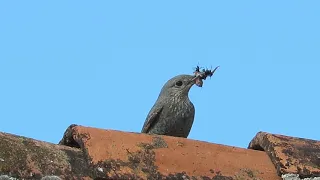
[[[320,141],[259,132],[248,148],[265,151],[279,175],[320,176]]]

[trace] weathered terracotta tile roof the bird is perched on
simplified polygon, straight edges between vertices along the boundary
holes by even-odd
[[[0,133],[0,172],[19,179],[256,179],[320,176],[320,142],[259,132],[248,149],[71,125],[59,144]]]

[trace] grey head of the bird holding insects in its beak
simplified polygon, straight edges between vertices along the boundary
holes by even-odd
[[[166,82],[162,87],[160,96],[188,97],[190,88],[196,83],[195,76],[178,75]]]

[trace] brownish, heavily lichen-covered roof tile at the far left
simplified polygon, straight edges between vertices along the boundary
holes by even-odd
[[[81,149],[0,133],[0,175],[40,179],[57,174],[73,179],[83,177],[87,169]]]

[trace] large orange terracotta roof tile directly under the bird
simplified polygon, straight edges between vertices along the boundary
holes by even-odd
[[[100,178],[280,179],[264,152],[185,138],[71,126],[60,144],[80,146]]]

